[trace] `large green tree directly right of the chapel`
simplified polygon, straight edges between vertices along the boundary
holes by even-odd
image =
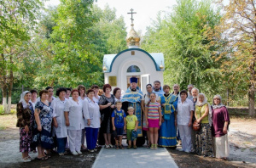
[[[186,88],[189,83],[213,94],[221,81],[218,77],[222,59],[214,62],[205,32],[218,25],[220,16],[212,1],[180,0],[172,14],[159,13],[148,28],[142,48],[165,55],[164,80]],[[217,80],[218,79],[218,80]]]

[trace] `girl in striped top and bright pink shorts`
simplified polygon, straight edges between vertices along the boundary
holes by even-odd
[[[158,129],[161,126],[161,108],[160,104],[156,102],[155,98],[155,93],[150,93],[150,101],[146,105],[145,109],[145,118],[150,132],[150,149],[157,149]]]

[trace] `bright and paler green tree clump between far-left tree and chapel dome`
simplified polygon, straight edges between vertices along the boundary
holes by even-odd
[[[101,86],[103,55],[125,48],[123,18],[116,17],[114,8],[101,9],[93,1],[63,0],[46,8],[37,30],[27,42],[28,57],[17,81],[25,87]]]

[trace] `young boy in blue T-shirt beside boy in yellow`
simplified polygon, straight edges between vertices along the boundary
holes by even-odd
[[[124,149],[124,146],[122,145],[122,138],[123,138],[123,132],[126,127],[126,123],[125,123],[126,115],[125,115],[125,111],[121,109],[122,108],[121,101],[119,100],[116,101],[115,106],[116,106],[116,109],[113,110],[113,113],[111,115],[113,131],[115,131],[117,134],[117,137],[115,137],[115,148]]]

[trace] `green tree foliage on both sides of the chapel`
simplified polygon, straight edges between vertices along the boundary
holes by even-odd
[[[0,5],[7,5],[4,2]],[[12,102],[19,100],[21,86],[38,90],[48,86],[74,88],[79,84],[102,87],[103,55],[126,49],[124,18],[117,17],[115,8],[108,5],[98,8],[93,0],[61,0],[60,5],[49,8],[43,8],[39,0],[29,2],[20,3],[27,6],[26,10],[22,5],[17,10],[18,22],[0,15],[0,49],[7,51],[7,58],[12,49],[17,51],[14,64],[0,61],[7,70],[2,75],[8,75],[10,68],[14,70]],[[21,20],[24,14],[31,22]],[[221,65],[229,57],[216,58],[229,48],[224,48],[225,41],[212,44],[216,39],[209,38],[209,30],[214,31],[221,17],[211,0],[179,0],[172,13],[159,12],[143,36],[141,48],[148,53],[164,53],[165,84],[177,83],[187,89],[192,83],[208,98],[220,94],[224,102],[246,106],[246,75],[222,70]],[[229,99],[226,92],[230,93]]]

